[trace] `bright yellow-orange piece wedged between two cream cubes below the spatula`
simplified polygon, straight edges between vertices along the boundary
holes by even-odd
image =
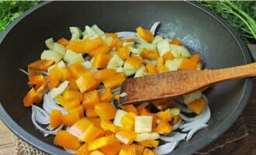
[[[126,115],[123,115],[122,119],[120,120],[120,124],[124,129],[134,131],[135,117],[136,115],[133,112],[128,112]]]

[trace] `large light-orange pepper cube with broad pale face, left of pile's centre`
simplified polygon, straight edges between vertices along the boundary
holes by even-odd
[[[78,85],[81,93],[95,88],[95,86],[98,84],[92,74],[82,74],[81,77],[75,81],[75,83]]]

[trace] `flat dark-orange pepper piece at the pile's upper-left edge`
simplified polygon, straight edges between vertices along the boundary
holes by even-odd
[[[33,63],[29,64],[28,67],[36,71],[47,71],[48,67],[53,64],[53,60],[36,60]]]

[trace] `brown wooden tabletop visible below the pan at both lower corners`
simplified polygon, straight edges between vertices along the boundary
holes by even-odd
[[[225,146],[207,153],[207,155],[256,155],[256,78],[254,88],[243,114],[248,135],[240,140],[227,143]],[[0,155],[15,154],[12,132],[0,121]],[[195,153],[198,154],[198,153]]]

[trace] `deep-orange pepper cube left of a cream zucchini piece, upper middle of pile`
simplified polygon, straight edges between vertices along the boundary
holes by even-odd
[[[107,54],[98,54],[93,60],[92,67],[95,68],[106,68],[111,56]]]

